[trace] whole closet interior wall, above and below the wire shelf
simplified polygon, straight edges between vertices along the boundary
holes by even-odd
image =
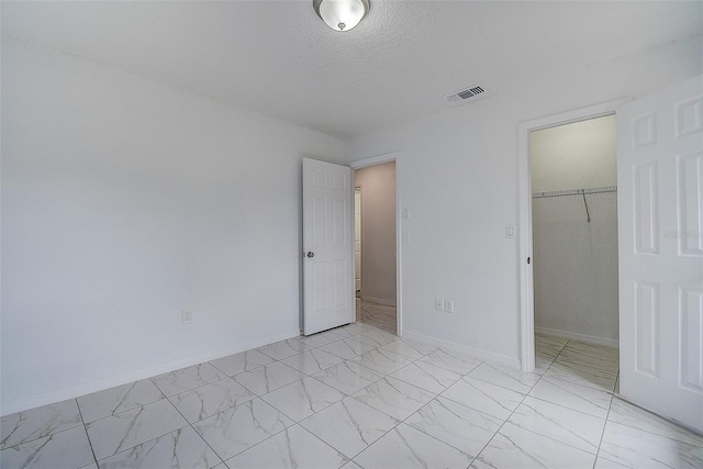
[[[617,194],[589,193],[615,188],[615,116],[534,132],[531,156],[535,331],[616,345]]]

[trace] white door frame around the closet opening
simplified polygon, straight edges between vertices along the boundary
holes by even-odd
[[[601,104],[581,108],[560,114],[548,115],[523,122],[517,127],[518,149],[517,149],[517,182],[520,199],[518,219],[518,258],[520,264],[520,364],[523,371],[535,369],[535,291],[533,283],[533,264],[527,264],[527,258],[532,260],[532,158],[529,155],[529,134],[534,131],[555,127],[558,125],[571,124],[587,121],[589,119],[603,118],[617,113],[617,109],[632,101],[632,99],[621,99]],[[616,155],[617,158],[617,155]],[[618,233],[620,239],[624,233]],[[620,331],[623,334],[623,331]]]

